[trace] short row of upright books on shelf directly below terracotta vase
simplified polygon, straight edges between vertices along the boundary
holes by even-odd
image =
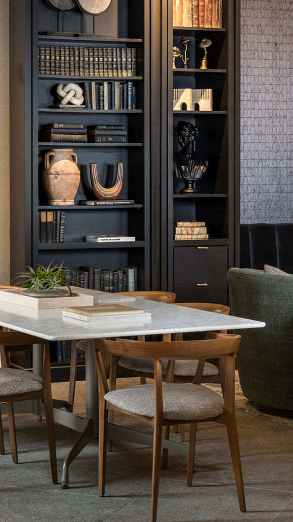
[[[65,231],[64,210],[38,212],[39,243],[64,243]]]

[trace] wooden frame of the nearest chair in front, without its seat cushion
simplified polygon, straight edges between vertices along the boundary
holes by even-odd
[[[204,420],[189,421],[191,423],[189,450],[188,450],[188,471],[187,484],[192,485],[194,450],[196,443],[197,423],[215,421],[226,425],[231,459],[233,462],[235,482],[237,487],[238,501],[240,510],[246,511],[245,494],[243,489],[243,479],[241,470],[240,451],[238,434],[235,418],[235,354],[240,343],[240,336],[231,334],[206,334],[206,339],[201,341],[163,341],[163,342],[140,342],[123,340],[103,340],[94,341],[96,353],[96,366],[99,376],[99,494],[105,493],[105,470],[106,470],[106,448],[107,448],[107,425],[108,411],[119,411],[132,415],[151,424],[154,429],[153,438],[153,471],[152,471],[152,513],[151,521],[155,522],[158,499],[158,482],[160,476],[160,454],[163,426],[169,428],[172,424],[181,424],[186,421],[179,419],[163,419],[163,398],[162,398],[162,360],[168,363],[168,373],[172,372],[172,365],[175,360],[189,359],[212,359],[219,358],[219,372],[224,396],[223,414]],[[135,358],[152,358],[154,360],[154,417],[144,417],[130,413],[127,409],[113,406],[104,399],[109,388],[107,384],[101,351],[111,353],[118,357],[127,356]],[[119,393],[119,392],[117,392]],[[168,438],[168,434],[167,438]],[[167,453],[167,449],[163,450]]]

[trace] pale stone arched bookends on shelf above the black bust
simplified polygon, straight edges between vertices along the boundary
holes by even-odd
[[[183,104],[185,104],[183,106]],[[174,89],[173,90],[174,111],[212,111],[213,90],[212,89]]]

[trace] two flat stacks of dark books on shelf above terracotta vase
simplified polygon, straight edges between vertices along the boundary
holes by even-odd
[[[89,143],[126,143],[127,130],[125,125],[111,125],[113,128],[99,128],[100,125],[89,125],[83,127],[82,124],[72,123],[66,128],[54,127],[53,124],[42,125],[42,141],[58,141],[70,143],[72,141]],[[122,127],[122,128],[121,128]]]

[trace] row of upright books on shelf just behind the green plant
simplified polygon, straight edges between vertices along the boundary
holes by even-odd
[[[137,290],[137,267],[119,269],[80,266],[66,270],[66,282],[79,288],[90,288],[102,292],[129,292]]]

